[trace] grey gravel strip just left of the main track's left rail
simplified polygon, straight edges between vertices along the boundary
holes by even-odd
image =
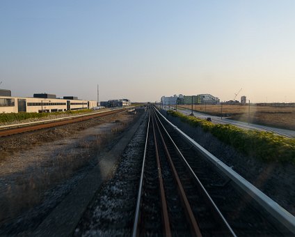
[[[147,122],[148,113],[125,148],[113,178],[95,197],[74,236],[131,236]]]

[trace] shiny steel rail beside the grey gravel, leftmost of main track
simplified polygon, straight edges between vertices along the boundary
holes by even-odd
[[[136,202],[136,211],[135,211],[135,217],[134,217],[134,225],[133,225],[133,231],[132,231],[132,237],[137,236],[137,230],[138,230],[138,219],[139,219],[139,211],[141,206],[141,194],[143,192],[143,173],[145,170],[145,157],[147,153],[147,146],[148,146],[148,135],[149,135],[149,129],[150,129],[150,113],[148,116],[148,129],[147,129],[147,135],[145,137],[145,151],[143,152],[143,165],[141,167],[141,181],[139,182],[139,188],[138,188],[138,195],[137,195],[137,202]]]

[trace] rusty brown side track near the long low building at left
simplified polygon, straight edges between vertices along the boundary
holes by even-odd
[[[62,119],[62,120],[58,119],[58,120],[52,120],[52,121],[40,121],[38,123],[34,122],[34,123],[28,123],[25,125],[19,124],[19,125],[17,125],[17,128],[15,128],[15,126],[11,126],[9,128],[5,128],[5,129],[0,130],[0,137],[15,135],[15,134],[19,134],[22,132],[33,132],[35,130],[41,130],[41,129],[45,129],[45,128],[54,128],[56,126],[65,125],[65,124],[69,124],[69,123],[77,123],[77,122],[81,122],[81,121],[86,121],[88,119],[94,119],[97,117],[115,114],[118,112],[122,112],[124,110],[125,109],[115,109],[115,110],[106,111],[106,112],[99,112],[96,114],[69,117],[67,119]]]

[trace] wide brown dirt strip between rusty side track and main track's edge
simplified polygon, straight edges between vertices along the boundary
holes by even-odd
[[[56,206],[97,164],[97,154],[108,151],[136,119],[120,113],[1,140],[0,228],[4,233],[38,224],[35,219]]]

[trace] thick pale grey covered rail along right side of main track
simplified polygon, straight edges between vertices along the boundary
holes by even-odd
[[[157,109],[156,109],[157,110]],[[168,121],[168,119],[165,118],[163,114],[161,114],[158,110],[157,113],[169,124],[171,125],[178,134],[180,134],[184,139],[186,139],[189,144],[191,144],[193,147],[195,147],[200,153],[207,158],[210,162],[212,162],[220,171],[225,174],[225,176],[228,176],[230,180],[234,181],[242,190],[247,192],[255,201],[260,204],[265,211],[267,211],[272,217],[274,217],[278,222],[283,224],[289,231],[291,231],[293,234],[295,234],[295,217],[291,213],[285,210],[285,208],[282,208],[276,201],[273,201],[270,197],[268,197],[266,194],[261,192],[259,189],[257,189],[252,183],[249,183],[246,181],[245,178],[237,174],[236,171],[230,169],[228,165],[225,165],[221,160],[216,158],[216,156],[212,155],[212,153],[209,153],[205,148],[200,146],[197,142],[195,142],[191,137],[186,135],[182,130],[177,128],[173,123]]]

